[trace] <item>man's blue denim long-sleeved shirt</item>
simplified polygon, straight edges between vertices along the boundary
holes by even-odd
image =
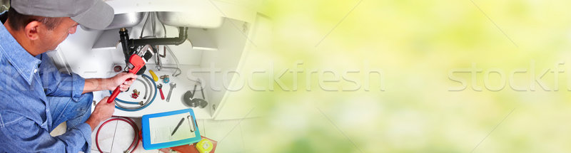
[[[86,123],[51,137],[46,100],[61,96],[77,101],[84,85],[81,76],[56,70],[45,53],[31,56],[0,24],[0,152],[89,152],[91,127]]]

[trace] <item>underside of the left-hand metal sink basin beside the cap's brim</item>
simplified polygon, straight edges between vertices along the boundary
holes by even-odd
[[[136,26],[138,23],[141,23],[141,21],[143,21],[144,16],[145,16],[144,12],[115,14],[115,17],[113,17],[113,21],[111,21],[109,26],[107,26],[107,28],[103,28],[102,30]],[[94,29],[86,28],[83,26],[82,28],[88,31],[94,31]]]

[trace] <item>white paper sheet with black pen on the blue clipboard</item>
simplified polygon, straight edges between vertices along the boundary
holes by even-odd
[[[181,119],[183,119],[181,126],[178,127],[173,135],[171,135]],[[192,120],[193,117],[191,117],[190,112],[164,117],[149,118],[148,125],[151,135],[151,144],[173,142],[181,139],[196,137],[196,134],[191,132],[191,127],[193,124]]]

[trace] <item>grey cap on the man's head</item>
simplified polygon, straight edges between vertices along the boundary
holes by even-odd
[[[10,6],[29,16],[71,17],[91,29],[106,28],[115,14],[113,8],[101,0],[12,0]]]

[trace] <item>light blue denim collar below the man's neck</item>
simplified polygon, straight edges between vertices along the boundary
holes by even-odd
[[[37,72],[41,60],[31,56],[18,41],[0,24],[0,52],[4,54],[11,65],[31,85],[32,76]]]

